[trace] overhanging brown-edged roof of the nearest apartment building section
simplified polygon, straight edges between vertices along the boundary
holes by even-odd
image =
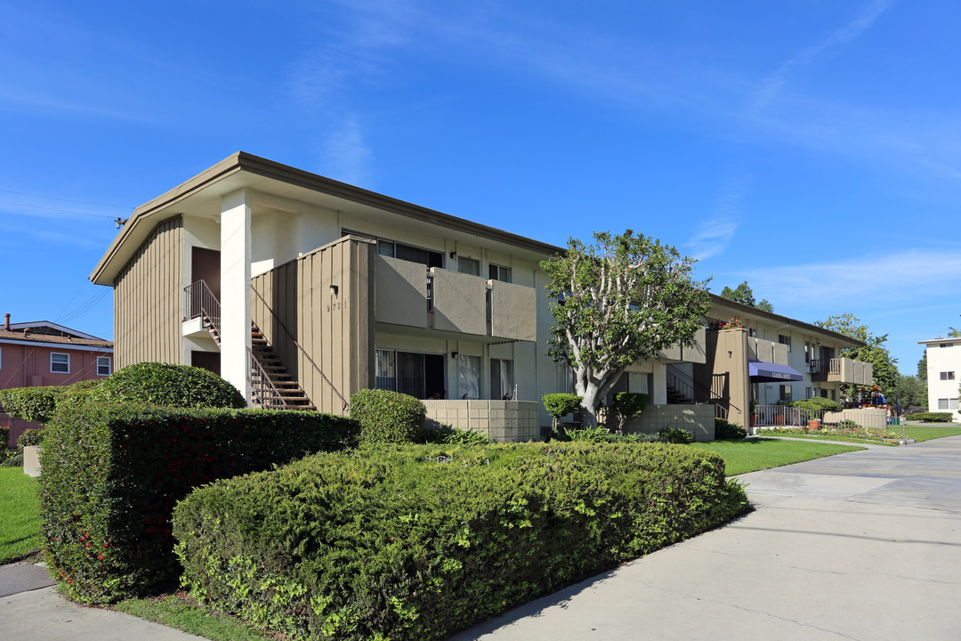
[[[333,209],[387,211],[462,234],[494,240],[533,254],[552,256],[564,251],[561,247],[519,234],[412,205],[280,162],[237,152],[159,198],[138,207],[113,239],[107,253],[94,267],[89,276],[90,281],[112,285],[113,279],[160,221],[184,213],[185,210],[204,210],[206,215],[211,217],[218,215],[220,197],[245,187],[308,204],[322,199],[326,206]]]

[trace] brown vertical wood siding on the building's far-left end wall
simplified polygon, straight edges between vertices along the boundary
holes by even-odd
[[[137,362],[180,364],[184,222],[157,225],[113,282],[115,369]]]

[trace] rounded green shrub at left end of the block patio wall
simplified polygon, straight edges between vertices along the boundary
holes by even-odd
[[[361,389],[351,396],[351,418],[360,423],[361,443],[416,443],[423,440],[427,407],[407,394]]]

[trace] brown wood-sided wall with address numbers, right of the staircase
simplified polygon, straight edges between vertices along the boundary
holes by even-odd
[[[266,302],[251,294],[254,322],[320,411],[341,413],[336,392],[349,401],[374,380],[375,250],[370,241],[347,236],[253,279]]]

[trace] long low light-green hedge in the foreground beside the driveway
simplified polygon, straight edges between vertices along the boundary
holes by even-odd
[[[198,488],[174,535],[195,598],[291,638],[443,639],[747,508],[683,446],[395,445]]]

